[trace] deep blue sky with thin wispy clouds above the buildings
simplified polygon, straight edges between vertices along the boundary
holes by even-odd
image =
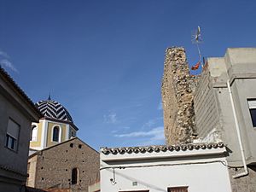
[[[256,46],[255,1],[0,0],[0,62],[33,102],[61,102],[93,148],[163,144],[167,47]]]

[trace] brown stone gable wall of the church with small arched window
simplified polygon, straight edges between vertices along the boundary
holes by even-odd
[[[38,157],[35,188],[87,192],[90,184],[99,181],[99,154],[79,138],[45,148],[35,155]],[[76,184],[72,184],[73,168],[79,170]]]

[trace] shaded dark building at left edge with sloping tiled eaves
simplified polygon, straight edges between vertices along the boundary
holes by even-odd
[[[0,190],[26,190],[26,167],[32,122],[42,114],[0,67]]]

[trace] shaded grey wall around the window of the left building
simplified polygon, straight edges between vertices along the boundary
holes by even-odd
[[[26,183],[31,121],[1,94],[0,106],[0,189],[18,192]],[[4,147],[9,118],[20,125],[17,151]]]

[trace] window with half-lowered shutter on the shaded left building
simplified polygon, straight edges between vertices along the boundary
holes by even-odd
[[[20,125],[15,123],[12,119],[9,119],[5,147],[17,151],[18,138],[20,132]]]

